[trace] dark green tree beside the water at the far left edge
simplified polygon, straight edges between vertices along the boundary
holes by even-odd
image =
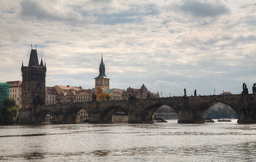
[[[3,101],[3,109],[1,112],[2,119],[0,120],[1,125],[14,124],[18,117],[19,106],[16,105],[14,99],[5,99]]]

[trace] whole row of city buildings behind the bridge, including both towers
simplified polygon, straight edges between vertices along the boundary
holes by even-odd
[[[110,88],[110,78],[105,74],[105,64],[101,59],[99,75],[94,78],[95,88],[83,89],[81,86],[45,86],[46,65],[37,57],[37,49],[32,49],[28,66],[22,62],[22,81],[10,81],[9,98],[14,99],[20,109],[36,105],[51,105],[56,103],[72,103],[86,101],[123,100],[134,97],[137,99],[157,98],[158,92],[152,93],[143,84],[140,89]]]

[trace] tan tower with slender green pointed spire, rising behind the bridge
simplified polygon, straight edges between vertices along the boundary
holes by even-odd
[[[102,62],[100,63],[100,74],[95,80],[95,88],[104,88],[104,89],[109,89],[109,80],[105,74],[105,64],[103,63],[103,57],[102,57]]]

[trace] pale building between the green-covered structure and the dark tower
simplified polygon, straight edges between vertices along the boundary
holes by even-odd
[[[9,83],[9,98],[14,99],[16,104],[22,108],[22,81],[10,81]]]

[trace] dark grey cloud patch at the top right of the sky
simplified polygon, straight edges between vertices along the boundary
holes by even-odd
[[[230,14],[230,9],[219,1],[179,1],[172,3],[167,9],[182,11],[192,14],[195,17],[217,17],[223,14]]]

